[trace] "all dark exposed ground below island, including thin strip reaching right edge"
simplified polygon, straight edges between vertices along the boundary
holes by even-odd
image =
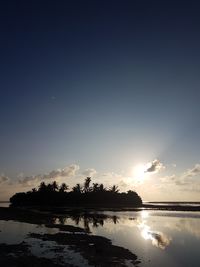
[[[171,210],[171,211],[200,211],[199,206],[166,206],[143,205],[138,209],[110,209],[115,211],[141,211],[141,210]],[[105,209],[70,209],[70,208],[0,208],[0,220],[23,222],[29,225],[40,225],[45,229],[56,230],[54,233],[27,234],[27,239],[17,244],[5,244],[0,239],[0,266],[77,266],[67,262],[64,256],[68,251],[78,253],[89,266],[138,266],[140,260],[131,251],[115,246],[112,241],[101,236],[92,235],[89,225],[103,225],[104,220],[112,220],[117,223],[117,216],[108,216],[102,213]],[[108,209],[107,209],[108,210]],[[73,218],[75,225],[80,219],[84,221],[84,227],[67,225],[66,218]],[[1,231],[1,229],[0,229]],[[48,242],[51,243],[53,259],[36,256],[32,253],[28,239],[34,239],[38,249]],[[66,252],[67,249],[67,252]],[[59,253],[58,253],[59,252]],[[63,256],[62,256],[63,255]],[[79,264],[79,266],[81,266]]]

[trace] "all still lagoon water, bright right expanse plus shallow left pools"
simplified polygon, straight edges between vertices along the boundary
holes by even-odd
[[[141,261],[141,267],[199,267],[200,266],[200,212],[138,211],[103,212],[89,217],[67,217],[55,223],[84,227],[91,234],[107,237],[112,243],[129,249]],[[14,221],[0,221],[0,243],[15,244],[23,240],[32,244],[32,251],[39,255],[39,243],[27,238],[29,232],[56,233],[42,225]],[[38,246],[38,248],[37,248]],[[48,247],[51,243],[48,244]],[[68,252],[66,251],[66,254]],[[52,255],[45,252],[43,256]],[[76,255],[76,266],[88,266],[87,261]],[[68,260],[73,262],[73,253]],[[78,259],[78,260],[77,260]],[[66,257],[67,260],[67,257]],[[131,266],[131,265],[129,265]]]

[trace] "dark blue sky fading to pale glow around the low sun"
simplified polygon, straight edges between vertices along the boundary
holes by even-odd
[[[89,175],[147,201],[200,201],[199,10],[1,1],[0,200]]]

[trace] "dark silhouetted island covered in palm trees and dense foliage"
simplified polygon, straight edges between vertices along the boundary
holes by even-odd
[[[84,185],[76,184],[71,191],[63,183],[58,186],[54,181],[50,184],[41,182],[38,189],[16,193],[10,198],[11,206],[73,206],[73,207],[140,207],[141,197],[132,190],[120,193],[113,185],[107,189],[103,184],[93,183],[91,178],[85,179]]]

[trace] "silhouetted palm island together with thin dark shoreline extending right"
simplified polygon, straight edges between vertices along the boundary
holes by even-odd
[[[76,184],[69,191],[69,186],[56,181],[46,184],[41,182],[38,188],[28,192],[16,193],[10,198],[11,207],[27,207],[36,209],[59,209],[65,212],[67,208],[96,210],[168,210],[168,211],[200,211],[200,203],[188,205],[188,202],[156,202],[143,203],[141,197],[132,190],[119,192],[116,185],[106,188],[103,184],[91,184],[87,177],[83,185]],[[199,205],[198,205],[199,204]]]

